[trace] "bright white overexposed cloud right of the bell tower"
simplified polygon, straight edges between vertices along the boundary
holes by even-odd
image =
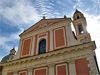
[[[100,15],[94,16],[84,13],[87,20],[87,30],[92,40],[96,42],[96,55],[100,67]]]

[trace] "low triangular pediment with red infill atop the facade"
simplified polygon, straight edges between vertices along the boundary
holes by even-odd
[[[25,30],[22,34],[38,30],[38,29],[46,27],[48,25],[52,25],[52,24],[64,21],[66,19],[68,19],[68,18],[42,19],[39,22],[37,22],[36,24],[34,24],[33,26],[31,26],[29,29]],[[20,35],[22,35],[22,34],[20,34]]]

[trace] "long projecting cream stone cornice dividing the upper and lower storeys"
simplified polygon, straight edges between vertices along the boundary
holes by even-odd
[[[83,48],[88,48],[88,47],[90,47],[91,50],[95,50],[95,48],[96,48],[95,42],[91,41],[91,42],[84,43],[84,44],[79,44],[79,45],[74,45],[74,46],[71,46],[71,47],[62,48],[62,49],[52,51],[52,52],[48,52],[48,53],[45,53],[45,54],[30,56],[30,57],[27,57],[27,58],[17,59],[17,60],[9,61],[9,62],[6,62],[6,63],[0,63],[0,64],[2,66],[15,65],[15,64],[18,64],[18,63],[25,63],[25,62],[30,62],[30,61],[33,61],[33,60],[40,60],[41,58],[51,57],[51,56],[54,56],[54,55],[59,55],[59,54],[63,54],[63,53],[71,52],[71,51],[82,50]]]

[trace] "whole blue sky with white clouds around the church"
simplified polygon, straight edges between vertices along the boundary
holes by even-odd
[[[76,8],[86,17],[100,67],[100,0],[0,0],[0,60],[13,47],[18,50],[19,34],[44,14],[46,18],[72,18]]]

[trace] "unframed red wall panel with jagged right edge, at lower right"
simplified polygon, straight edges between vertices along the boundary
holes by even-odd
[[[89,75],[90,68],[88,67],[86,58],[78,59],[75,61],[77,75]]]

